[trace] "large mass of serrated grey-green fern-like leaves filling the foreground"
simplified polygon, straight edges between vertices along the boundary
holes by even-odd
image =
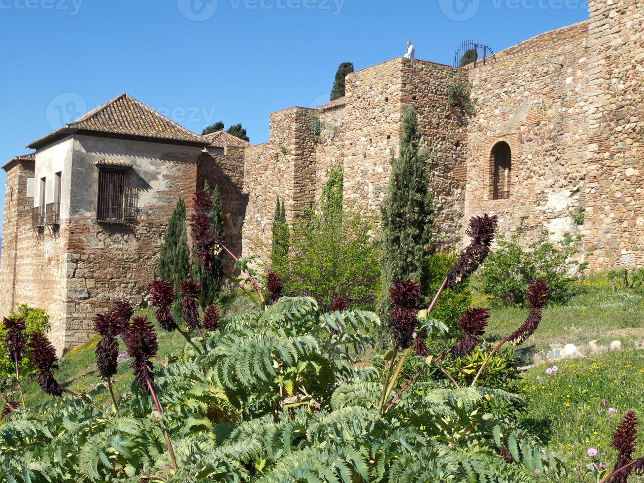
[[[379,324],[361,310],[323,314],[311,298],[225,317],[205,354],[186,345],[155,364],[162,415],[133,386],[106,414],[64,396],[5,417],[0,479],[509,483],[565,471],[513,424],[522,400],[503,390],[426,381],[379,413],[382,374],[358,363]]]

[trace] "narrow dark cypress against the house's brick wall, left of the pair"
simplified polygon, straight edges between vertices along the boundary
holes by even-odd
[[[177,200],[175,209],[167,222],[157,272],[160,279],[167,279],[172,283],[175,290],[173,312],[178,314],[181,307],[179,284],[188,278],[190,272],[190,248],[185,227],[184,198],[180,197]]]

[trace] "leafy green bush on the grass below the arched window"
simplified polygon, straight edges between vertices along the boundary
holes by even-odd
[[[583,274],[585,264],[573,259],[578,252],[578,238],[565,234],[560,243],[549,242],[546,232],[524,249],[520,227],[511,237],[500,235],[497,250],[489,254],[480,270],[480,291],[504,305],[526,303],[528,285],[544,278],[550,287],[549,301],[562,303],[574,294],[574,282]]]

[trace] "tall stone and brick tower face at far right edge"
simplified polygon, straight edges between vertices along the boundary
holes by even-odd
[[[644,3],[591,0],[586,259],[644,266]]]

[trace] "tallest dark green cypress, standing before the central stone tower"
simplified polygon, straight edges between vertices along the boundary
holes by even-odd
[[[421,150],[421,130],[416,113],[407,106],[403,115],[403,135],[398,157],[392,155],[392,172],[387,196],[381,205],[383,289],[379,300],[381,314],[389,309],[388,291],[392,283],[412,279],[428,295],[431,259],[431,203],[428,153]]]

